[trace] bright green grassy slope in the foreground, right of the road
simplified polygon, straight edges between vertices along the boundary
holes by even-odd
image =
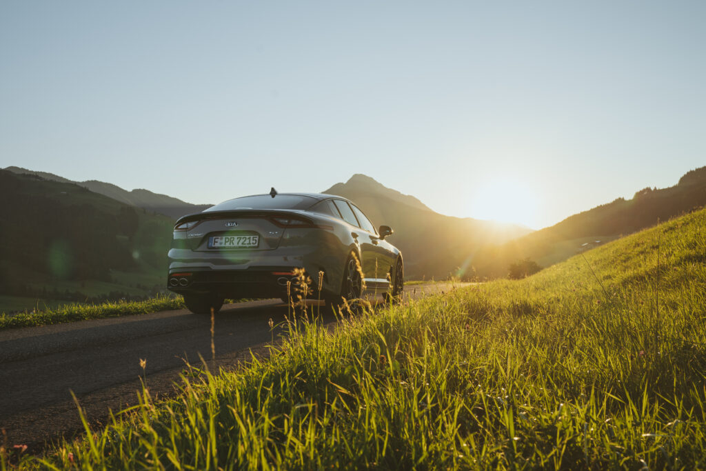
[[[299,321],[20,467],[704,468],[705,232],[702,210],[525,280]]]

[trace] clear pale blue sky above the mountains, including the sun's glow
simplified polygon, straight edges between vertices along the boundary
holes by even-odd
[[[0,167],[533,228],[706,165],[706,1],[0,4]],[[382,222],[378,222],[382,223]]]

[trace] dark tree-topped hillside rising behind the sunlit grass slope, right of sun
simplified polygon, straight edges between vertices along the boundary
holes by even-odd
[[[706,167],[688,172],[675,186],[645,188],[630,200],[618,198],[512,242],[484,247],[471,257],[471,263],[479,275],[490,278],[506,275],[510,263],[520,258],[529,257],[541,266],[550,266],[577,254],[587,242],[609,242],[703,205]]]

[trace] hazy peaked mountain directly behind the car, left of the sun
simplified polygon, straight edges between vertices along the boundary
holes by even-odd
[[[531,232],[517,225],[434,213],[417,198],[361,174],[323,193],[354,201],[375,225],[384,224],[395,230],[390,243],[402,251],[408,279],[456,275],[460,269],[467,268],[467,254],[480,246],[509,241]]]

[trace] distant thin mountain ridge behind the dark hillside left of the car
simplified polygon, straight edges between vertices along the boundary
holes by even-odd
[[[75,183],[78,186],[83,186],[83,188],[93,191],[94,193],[108,196],[109,198],[113,198],[121,203],[167,215],[174,219],[178,219],[185,214],[198,213],[205,210],[205,208],[210,208],[211,206],[186,203],[180,199],[173,198],[172,196],[152,193],[152,191],[145,189],[134,189],[132,191],[127,191],[114,184],[105,183],[104,181],[71,181],[48,172],[36,172],[34,170],[23,169],[20,167],[6,167],[5,170],[16,174],[36,175],[37,177],[42,177],[42,179],[49,181]]]

